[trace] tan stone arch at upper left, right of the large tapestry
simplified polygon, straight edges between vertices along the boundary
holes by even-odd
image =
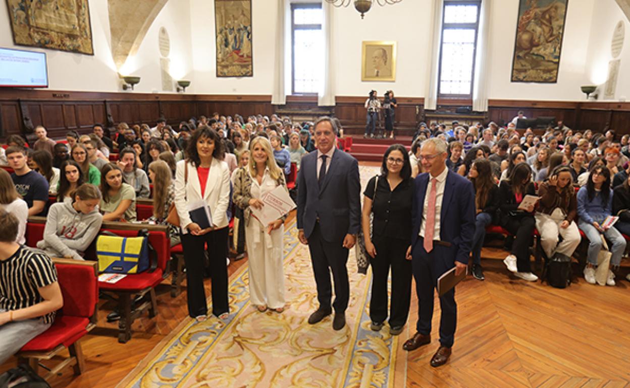
[[[168,0],[108,0],[112,55],[116,67],[140,47],[149,27]]]

